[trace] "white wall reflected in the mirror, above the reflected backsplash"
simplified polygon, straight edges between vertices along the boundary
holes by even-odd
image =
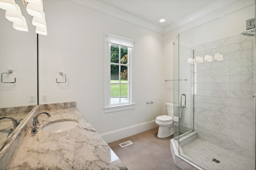
[[[28,15],[21,1],[22,14],[26,17],[28,32],[18,31],[12,22],[5,18],[5,10],[0,9],[0,74],[13,70],[12,74],[3,74],[0,82],[0,107],[30,106],[37,104],[37,47],[36,32],[32,25],[32,16]],[[29,103],[29,96],[35,95],[35,102]]]

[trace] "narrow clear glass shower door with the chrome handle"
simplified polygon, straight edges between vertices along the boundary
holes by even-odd
[[[179,45],[179,35],[173,48],[174,139],[179,143],[179,137],[193,130],[194,63],[193,51]]]

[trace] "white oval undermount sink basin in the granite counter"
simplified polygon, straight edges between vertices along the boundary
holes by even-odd
[[[42,131],[48,133],[58,133],[72,129],[77,125],[78,123],[76,121],[58,121],[44,126]]]

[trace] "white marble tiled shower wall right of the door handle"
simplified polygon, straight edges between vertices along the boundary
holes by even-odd
[[[195,47],[196,55],[221,53],[223,61],[196,65],[194,131],[248,158],[255,157],[253,45],[254,37],[236,35]]]

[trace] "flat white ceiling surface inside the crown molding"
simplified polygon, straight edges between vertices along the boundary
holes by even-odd
[[[166,27],[217,0],[98,0],[142,20]],[[166,21],[160,23],[164,18]]]

